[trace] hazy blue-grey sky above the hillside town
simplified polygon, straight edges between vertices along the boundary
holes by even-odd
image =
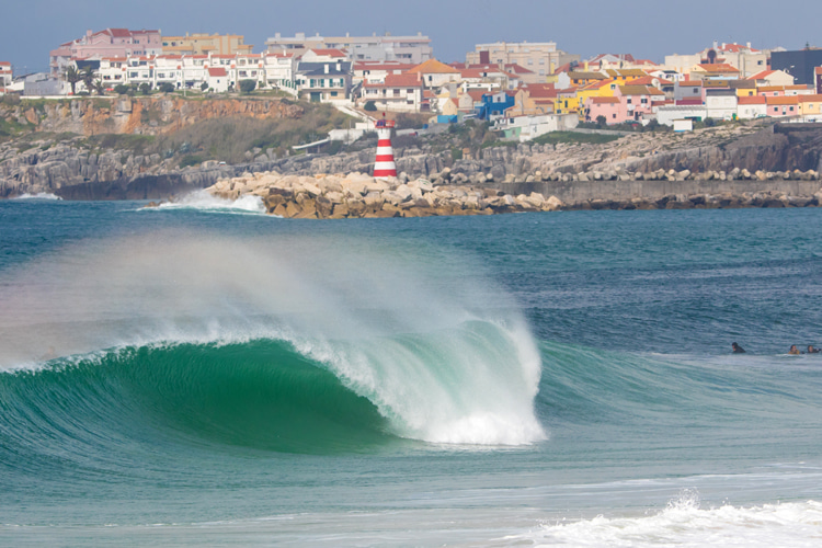
[[[496,41],[556,42],[583,59],[630,53],[660,62],[715,39],[758,48],[822,46],[820,0],[5,0],[1,12],[0,60],[20,72],[46,70],[50,49],[87,28],[110,26],[243,34],[254,52],[276,32],[422,32],[445,62],[464,61],[475,44]]]

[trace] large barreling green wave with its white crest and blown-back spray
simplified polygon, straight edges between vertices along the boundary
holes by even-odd
[[[4,436],[307,453],[545,438],[538,351],[491,284],[454,290],[372,242],[165,236],[5,273]]]

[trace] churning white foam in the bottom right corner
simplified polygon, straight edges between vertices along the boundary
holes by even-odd
[[[760,506],[700,507],[690,491],[661,512],[638,517],[604,517],[546,524],[505,537],[530,546],[633,548],[676,546],[743,546],[747,548],[817,547],[822,544],[822,503],[817,501]]]

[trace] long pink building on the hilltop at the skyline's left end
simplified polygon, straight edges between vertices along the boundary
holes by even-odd
[[[162,54],[160,31],[129,31],[106,28],[61,44],[49,53],[52,75],[58,76],[72,60],[102,59],[104,57],[132,57]]]

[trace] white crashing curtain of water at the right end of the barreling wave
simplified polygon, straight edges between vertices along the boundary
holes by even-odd
[[[546,438],[533,408],[541,359],[524,324],[471,320],[307,352],[373,401],[402,437],[507,446]]]

